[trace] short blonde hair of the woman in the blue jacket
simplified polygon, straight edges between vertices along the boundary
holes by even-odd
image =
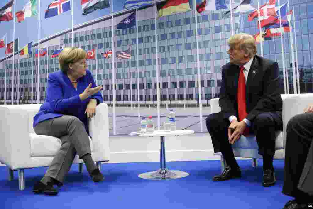
[[[63,73],[67,74],[69,71],[69,64],[77,62],[81,59],[86,59],[87,53],[83,49],[76,47],[67,47],[59,54],[59,65]]]

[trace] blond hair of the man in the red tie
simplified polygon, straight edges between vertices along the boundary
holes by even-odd
[[[256,55],[256,42],[250,34],[242,33],[233,35],[227,40],[227,43],[229,47],[239,44],[239,50],[244,50],[245,54],[248,54],[250,58]]]

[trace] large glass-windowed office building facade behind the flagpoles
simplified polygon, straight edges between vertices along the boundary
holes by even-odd
[[[238,4],[239,1],[235,1]],[[265,1],[260,1],[260,5]],[[280,2],[285,3],[285,1]],[[257,5],[255,1],[255,5]],[[290,9],[294,7],[295,31],[298,50],[298,67],[300,74],[300,92],[312,92],[313,59],[313,1],[290,1]],[[112,20],[105,16],[95,21],[76,26],[74,28],[74,46],[85,50],[96,50],[96,60],[88,60],[88,69],[92,71],[95,80],[103,85],[104,101],[111,102],[115,91],[117,103],[137,101],[137,76],[139,76],[139,100],[141,103],[156,102],[156,76],[159,76],[160,100],[162,102],[197,102],[198,72],[200,73],[201,101],[206,103],[213,97],[219,97],[221,85],[221,67],[229,59],[227,55],[227,39],[231,36],[230,16],[223,16],[225,10],[204,11],[198,18],[198,56],[196,42],[196,20],[193,11],[168,15],[157,18],[155,25],[154,8],[144,8],[138,11],[138,31],[136,27],[117,29],[116,25],[130,11],[121,11],[114,16],[114,49],[117,55],[131,46],[131,59],[118,59],[115,56],[115,90],[112,85],[113,59],[103,59],[100,53],[112,49]],[[249,13],[233,14],[233,29],[235,33],[244,32],[257,34],[257,21],[249,22]],[[241,16],[241,17],[240,17]],[[239,24],[240,19],[240,24]],[[293,20],[292,20],[293,22]],[[239,29],[238,29],[239,27]],[[155,30],[157,37],[155,36]],[[137,40],[138,34],[138,40]],[[293,39],[294,34],[293,34]],[[288,70],[289,90],[293,92],[290,34],[284,34],[285,66]],[[157,49],[156,43],[157,41]],[[295,43],[295,40],[294,40]],[[48,56],[38,58],[15,56],[2,60],[0,64],[1,102],[11,103],[11,94],[14,93],[14,102],[31,103],[44,102],[49,73],[59,70],[58,57],[51,58],[51,54],[59,47],[72,45],[71,30],[55,34],[41,41],[41,47],[48,46]],[[137,50],[138,46],[138,50]],[[35,46],[36,48],[36,46]],[[280,90],[284,93],[283,65],[280,37],[263,43],[264,57],[276,60],[280,66]],[[138,52],[138,53],[137,53]],[[137,60],[138,54],[138,60]],[[258,55],[261,54],[258,44]],[[156,57],[158,57],[159,75],[156,73]],[[312,60],[313,62],[313,60]],[[39,64],[39,71],[37,72]],[[5,65],[7,75],[5,76]],[[137,67],[139,74],[137,74]],[[12,89],[12,75],[14,69],[14,88]],[[39,80],[37,79],[39,73]],[[18,79],[19,77],[19,79]],[[6,87],[5,87],[6,78]],[[37,88],[39,82],[39,89]],[[19,95],[18,95],[19,94]]]

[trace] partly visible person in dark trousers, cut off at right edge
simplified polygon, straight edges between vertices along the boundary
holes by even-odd
[[[313,206],[313,105],[287,124],[283,194],[295,199],[284,209]]]

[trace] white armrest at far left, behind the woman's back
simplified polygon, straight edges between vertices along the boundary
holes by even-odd
[[[30,158],[29,118],[23,105],[1,105],[0,161],[11,169],[25,165]]]

